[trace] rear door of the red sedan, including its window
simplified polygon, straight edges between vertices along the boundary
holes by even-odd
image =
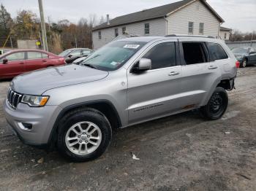
[[[48,66],[48,55],[37,51],[26,52],[25,71],[34,71]]]

